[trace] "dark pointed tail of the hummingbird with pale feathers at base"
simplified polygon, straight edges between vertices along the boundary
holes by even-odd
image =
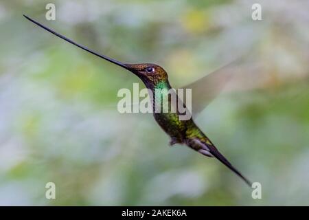
[[[205,142],[201,142],[201,140],[193,140],[195,142],[195,144],[198,144],[199,146],[201,146],[202,148],[196,150],[199,153],[207,156],[207,157],[216,157],[222,164],[225,164],[225,166],[227,166],[230,170],[232,170],[234,173],[236,173],[236,175],[238,175],[240,178],[242,178],[248,185],[249,187],[252,186],[251,181],[249,181],[249,179],[247,179],[246,177],[244,177],[244,175],[242,175],[242,173],[240,173],[228,160],[227,158],[225,158],[225,156],[223,156],[218,149],[211,144],[206,144]],[[196,149],[196,147],[194,147]]]

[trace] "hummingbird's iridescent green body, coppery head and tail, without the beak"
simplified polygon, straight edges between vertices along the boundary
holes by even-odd
[[[179,104],[185,107],[182,100],[178,98],[168,81],[168,74],[159,65],[152,63],[141,64],[126,64],[131,71],[137,75],[150,91],[152,91],[152,110],[153,115],[159,126],[170,136],[170,145],[185,144],[198,153],[207,157],[216,157],[220,162],[225,164],[246,181],[249,186],[251,182],[245,178],[231,163],[218,151],[216,146],[209,140],[209,138],[198,128],[192,117],[188,120],[180,120]],[[133,70],[132,70],[133,69]],[[157,93],[156,91],[161,91]],[[171,101],[170,93],[176,97],[176,102]],[[159,94],[159,96],[158,96]],[[169,109],[170,111],[164,112],[162,109]],[[176,111],[171,111],[172,109]],[[157,109],[161,111],[157,112]],[[188,111],[188,109],[187,109]]]

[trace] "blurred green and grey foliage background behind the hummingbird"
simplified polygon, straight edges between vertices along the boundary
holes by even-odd
[[[0,205],[309,205],[308,11],[288,0],[1,1]],[[133,74],[22,14],[124,63],[157,63],[174,87],[250,54],[197,124],[262,199],[216,159],[168,147],[151,114],[119,113],[117,91],[144,87]]]

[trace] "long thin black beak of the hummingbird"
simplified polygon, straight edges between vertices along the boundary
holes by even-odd
[[[97,52],[94,52],[93,50],[90,50],[88,47],[85,47],[83,45],[80,45],[78,43],[75,43],[74,41],[68,39],[67,37],[61,35],[61,34],[58,34],[57,32],[55,32],[54,30],[50,29],[50,28],[47,28],[45,25],[42,25],[41,23],[38,23],[37,21],[34,21],[33,19],[30,19],[30,17],[27,17],[25,14],[23,14],[23,16],[28,19],[29,21],[32,21],[33,23],[35,23],[36,25],[40,26],[41,28],[47,30],[47,32],[51,32],[52,34],[55,34],[56,36],[60,37],[60,39],[63,39],[73,45],[76,45],[77,47],[80,47],[82,50],[86,50],[87,52],[91,53],[91,54],[94,54],[95,56],[99,56],[100,58],[104,58],[104,60],[106,61],[109,61],[111,63],[114,63],[115,65],[118,65],[120,67],[123,67],[124,69],[128,69],[130,72],[133,72],[133,69],[130,69],[127,65],[125,65],[124,63],[121,63],[119,61],[116,61],[115,59],[113,58],[109,58],[108,56],[105,56],[105,55],[102,55],[102,54],[99,54]],[[134,73],[134,72],[133,72]]]

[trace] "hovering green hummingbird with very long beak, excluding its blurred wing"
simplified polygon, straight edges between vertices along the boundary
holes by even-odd
[[[84,45],[80,45],[71,39],[68,39],[66,36],[63,36],[61,34],[58,34],[54,30],[47,28],[45,25],[38,23],[37,21],[34,21],[30,17],[27,17],[25,14],[23,15],[26,19],[29,21],[32,21],[32,23],[35,23],[39,27],[47,30],[48,32],[55,34],[60,39],[63,39],[73,45],[76,45],[77,47],[80,47],[82,50],[85,50],[91,54],[94,54],[95,56],[99,56],[100,58],[103,58],[104,60],[113,63],[115,65],[118,65],[119,67],[122,67],[135,76],[137,76],[148,88],[150,91],[152,91],[153,94],[155,94],[155,89],[165,89],[170,91],[172,89],[170,82],[168,80],[168,73],[159,65],[153,64],[153,63],[138,63],[138,64],[128,64],[128,63],[122,63],[119,62],[113,58],[110,58],[108,56],[99,54],[98,52],[94,52],[93,50],[90,50],[88,47],[85,47]],[[207,157],[215,157],[218,159],[222,164],[227,166],[230,170],[233,171],[233,173],[236,173],[241,179],[244,180],[246,184],[248,184],[251,187],[251,181],[244,177],[240,171],[238,171],[226,158],[223,156],[220,151],[218,151],[218,148],[214,145],[211,140],[199,129],[199,127],[195,124],[192,117],[188,120],[180,120],[179,115],[180,111],[176,112],[158,112],[155,111],[156,108],[162,108],[166,106],[170,106],[171,100],[170,96],[166,93],[161,93],[161,100],[158,101],[158,98],[152,98],[152,96],[149,96],[152,103],[152,109],[153,109],[153,116],[165,133],[167,133],[170,136],[170,145],[174,144],[183,144],[190,148],[192,148],[194,151],[201,153],[202,155],[205,155]],[[176,95],[177,96],[177,95]],[[177,96],[177,101],[181,102],[181,100]],[[183,104],[183,103],[181,103]],[[183,104],[185,107],[185,104]]]

